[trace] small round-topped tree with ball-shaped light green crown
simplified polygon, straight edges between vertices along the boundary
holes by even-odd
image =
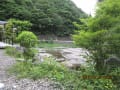
[[[32,59],[35,55],[35,50],[32,48],[35,47],[38,42],[36,35],[30,31],[23,31],[18,35],[17,41],[24,47],[23,55],[25,61],[27,62],[29,59]]]

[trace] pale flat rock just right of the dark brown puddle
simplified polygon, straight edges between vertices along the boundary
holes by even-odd
[[[86,64],[87,59],[85,57],[87,57],[89,54],[88,51],[82,48],[62,49],[61,53],[63,57],[67,60],[67,62],[64,62],[64,64],[71,68]]]

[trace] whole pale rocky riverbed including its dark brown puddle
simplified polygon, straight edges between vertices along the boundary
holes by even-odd
[[[64,64],[69,68],[85,65],[89,52],[82,48],[55,48],[55,49],[39,49],[39,57],[55,57],[57,62]]]

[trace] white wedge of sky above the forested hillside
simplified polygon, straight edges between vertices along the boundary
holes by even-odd
[[[97,0],[72,0],[77,7],[81,8],[87,14],[94,16]]]

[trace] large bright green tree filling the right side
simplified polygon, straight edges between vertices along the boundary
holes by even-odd
[[[88,49],[96,70],[104,73],[104,62],[111,56],[120,57],[120,1],[105,0],[98,5],[96,16],[88,21],[88,30],[73,36],[75,43]]]

